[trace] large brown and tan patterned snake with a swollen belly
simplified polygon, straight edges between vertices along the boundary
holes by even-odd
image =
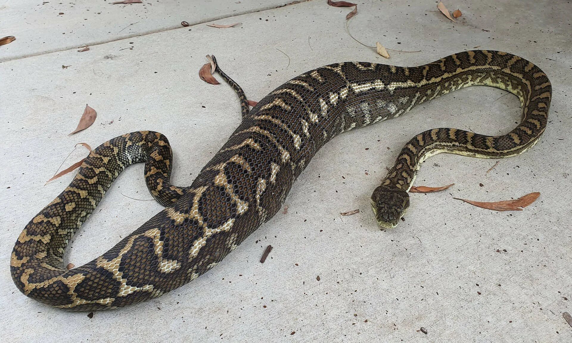
[[[213,59],[216,63],[216,59]],[[135,131],[91,151],[73,181],[22,230],[11,276],[27,297],[67,310],[102,310],[156,298],[204,274],[283,205],[313,155],[336,135],[399,117],[420,103],[484,85],[517,95],[518,126],[503,135],[438,128],[404,145],[371,196],[380,229],[409,208],[421,163],[439,153],[505,158],[523,153],[545,131],[547,75],[510,53],[472,50],[416,67],[343,62],[303,73],[251,110],[241,87],[216,71],[240,98],[242,119],[190,186],[170,183],[172,149],[156,131]],[[64,266],[67,244],[127,166],[145,162],[145,182],[165,208],[94,260]]]

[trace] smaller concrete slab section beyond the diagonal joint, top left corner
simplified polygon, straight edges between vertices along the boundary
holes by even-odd
[[[0,34],[13,35],[16,41],[0,49],[0,62],[178,29],[182,21],[196,25],[273,9],[289,1],[113,2],[4,1]],[[124,43],[129,48],[129,42]]]

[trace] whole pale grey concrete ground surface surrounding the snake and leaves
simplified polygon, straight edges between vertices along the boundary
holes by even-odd
[[[313,0],[112,5],[3,2],[0,36],[0,296],[2,337],[12,342],[572,342],[570,149],[572,5],[567,1],[447,0],[359,3],[351,10]],[[64,14],[58,14],[58,13]],[[206,22],[237,27],[217,29]],[[181,21],[191,24],[180,26]],[[88,44],[90,50],[77,52]],[[550,122],[518,157],[438,155],[417,185],[455,183],[411,194],[406,221],[380,231],[372,190],[403,144],[432,127],[506,133],[519,101],[470,87],[403,118],[340,135],[300,176],[284,210],[209,273],[144,304],[65,312],[26,298],[10,278],[19,232],[73,177],[44,185],[78,142],[93,147],[134,130],[157,130],[174,149],[174,184],[188,185],[240,122],[225,84],[198,78],[206,54],[258,100],[306,70],[340,61],[414,66],[479,46],[521,55],[553,83]],[[63,66],[67,66],[62,68]],[[222,81],[222,80],[221,80]],[[96,122],[68,136],[89,103]],[[84,157],[78,149],[65,165]],[[78,232],[67,261],[105,252],[161,206],[148,200],[143,166],[130,167]],[[481,185],[479,185],[481,184]],[[522,212],[492,212],[478,201],[540,198]],[[134,198],[134,199],[133,199]],[[287,208],[287,210],[286,210]],[[340,212],[360,209],[353,216]],[[264,264],[267,245],[274,249]],[[319,276],[319,280],[317,280]],[[420,328],[428,330],[427,334]]]

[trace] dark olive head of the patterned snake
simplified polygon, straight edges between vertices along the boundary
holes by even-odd
[[[403,189],[379,186],[371,195],[371,208],[379,226],[384,229],[395,228],[409,208],[409,194]]]

